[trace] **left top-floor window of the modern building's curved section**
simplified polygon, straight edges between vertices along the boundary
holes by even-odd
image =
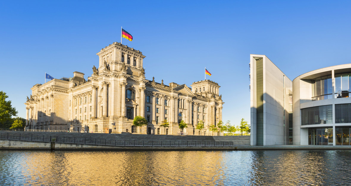
[[[312,101],[331,99],[332,93],[331,75],[312,80]]]

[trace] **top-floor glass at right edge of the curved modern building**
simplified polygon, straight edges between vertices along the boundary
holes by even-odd
[[[351,83],[351,73],[335,74],[335,98],[348,98]]]

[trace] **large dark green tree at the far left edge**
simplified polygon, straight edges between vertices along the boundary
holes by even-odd
[[[12,107],[11,101],[6,101],[8,98],[5,92],[0,91],[0,123],[3,125],[4,122],[11,119],[12,116],[17,116],[16,108]]]

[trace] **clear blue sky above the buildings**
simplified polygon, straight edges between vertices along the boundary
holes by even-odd
[[[146,55],[146,79],[190,86],[212,73],[223,121],[250,122],[250,54],[291,80],[351,63],[350,1],[1,1],[0,90],[25,118],[30,88],[74,71],[91,76],[97,52],[123,44]]]

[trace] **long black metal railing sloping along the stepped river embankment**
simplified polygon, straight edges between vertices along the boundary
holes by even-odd
[[[232,141],[214,140],[121,140],[106,138],[77,138],[53,135],[36,135],[21,133],[0,133],[0,139],[60,142],[67,144],[106,145],[119,147],[233,147]]]

